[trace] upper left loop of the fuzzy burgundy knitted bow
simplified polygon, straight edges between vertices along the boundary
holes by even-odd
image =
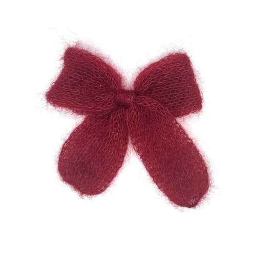
[[[49,103],[95,116],[115,109],[120,74],[98,56],[76,47],[65,51],[63,61],[59,77],[46,94]]]

